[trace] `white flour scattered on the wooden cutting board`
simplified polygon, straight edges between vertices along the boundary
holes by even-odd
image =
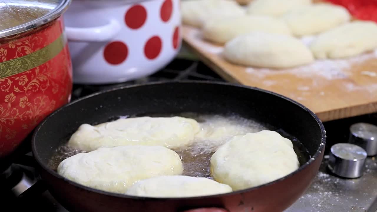
[[[193,30],[188,31],[188,36],[193,38],[192,41],[195,42],[195,45],[200,47],[200,49],[210,53],[218,55],[222,57],[220,54],[224,50],[224,47],[217,46],[209,41],[203,40],[201,31],[199,29],[193,28]],[[301,41],[305,43],[305,45],[310,46],[310,44],[316,39],[315,36],[308,36],[302,37]],[[250,78],[253,81],[261,81],[264,86],[274,86],[279,83],[289,83],[287,81],[276,81],[271,80],[268,77],[271,75],[284,75],[290,74],[294,75],[298,78],[306,78],[306,79],[313,79],[311,84],[305,86],[298,86],[297,90],[301,92],[310,91],[311,88],[318,88],[325,86],[326,84],[331,83],[332,80],[341,80],[350,77],[349,75],[352,72],[346,71],[350,69],[353,65],[360,64],[366,60],[377,58],[377,50],[374,52],[369,52],[366,54],[362,54],[356,57],[346,58],[346,59],[337,59],[337,60],[316,60],[311,64],[299,66],[296,68],[290,69],[268,69],[268,68],[253,68],[247,67],[245,68],[245,72],[250,74]],[[225,60],[225,59],[224,59]],[[361,75],[365,77],[377,77],[377,72],[374,71],[361,71]],[[344,89],[347,91],[358,91],[358,90],[366,90],[369,92],[374,92],[377,90],[377,83],[371,84],[365,88],[365,86],[361,87],[357,84],[352,82],[344,83]],[[318,95],[324,96],[325,92],[320,91]],[[298,100],[302,100],[303,97],[297,96],[293,97]]]

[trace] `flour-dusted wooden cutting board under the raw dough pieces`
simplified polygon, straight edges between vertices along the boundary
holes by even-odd
[[[322,121],[377,112],[377,51],[293,69],[261,69],[229,63],[221,55],[223,47],[204,41],[199,29],[183,26],[182,35],[187,46],[225,80],[292,98]]]

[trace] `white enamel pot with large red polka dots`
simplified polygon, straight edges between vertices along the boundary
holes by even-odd
[[[181,47],[179,0],[73,0],[64,14],[74,82],[146,77]]]

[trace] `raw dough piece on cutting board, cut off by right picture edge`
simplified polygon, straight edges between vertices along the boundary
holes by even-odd
[[[320,34],[310,45],[318,59],[356,56],[377,48],[377,24],[355,21]]]

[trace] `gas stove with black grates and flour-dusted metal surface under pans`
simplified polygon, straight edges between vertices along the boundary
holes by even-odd
[[[166,68],[146,78],[109,85],[75,84],[72,100],[118,86],[169,80],[224,81],[199,61],[177,58]],[[359,178],[338,177],[328,169],[330,147],[336,143],[347,143],[349,127],[360,122],[377,125],[377,115],[368,114],[324,123],[327,142],[320,171],[305,194],[285,212],[377,211],[377,200],[375,200],[377,198],[377,158],[366,158],[365,169]],[[44,190],[43,182],[38,181],[38,172],[31,157],[31,152],[22,154],[13,161],[14,163],[8,170],[0,174],[1,196],[6,197],[3,199],[5,204],[8,203],[13,208],[20,207],[19,210],[13,211],[46,209],[49,212],[68,212],[48,190]]]

